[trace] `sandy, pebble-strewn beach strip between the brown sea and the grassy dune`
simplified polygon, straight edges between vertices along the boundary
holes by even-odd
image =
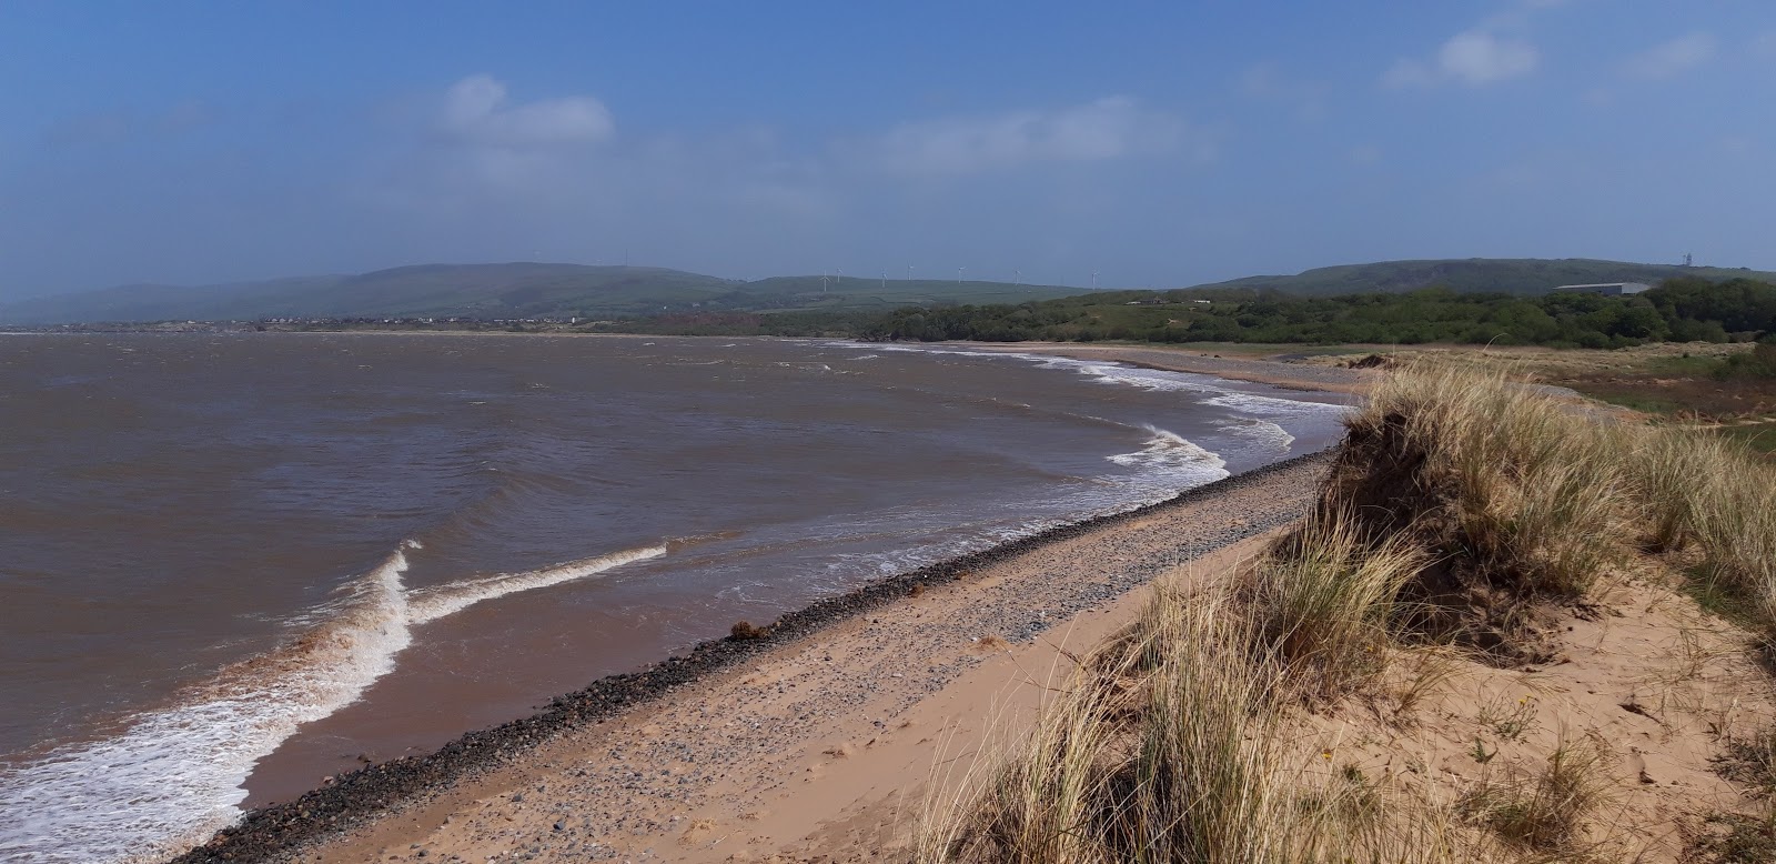
[[[787,617],[760,647],[723,640],[652,667],[627,708],[480,732],[446,748],[458,764],[387,766],[391,782],[371,768],[181,860],[892,855],[934,772],[1014,732],[1067,651],[1130,620],[1153,580],[1257,553],[1305,512],[1325,464],[1302,457],[877,583]],[[462,756],[474,750],[488,756]],[[403,788],[408,773],[426,780]]]

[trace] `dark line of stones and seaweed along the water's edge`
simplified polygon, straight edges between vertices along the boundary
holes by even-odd
[[[902,599],[911,592],[913,585],[952,581],[961,571],[1002,562],[1044,544],[1080,537],[1092,530],[1137,519],[1156,510],[1215,498],[1263,476],[1328,459],[1330,453],[1321,450],[1272,462],[1241,475],[1183,491],[1160,503],[1060,524],[1030,537],[1007,540],[989,549],[961,555],[899,576],[888,576],[851,592],[815,601],[810,606],[780,617],[760,638],[739,640],[726,636],[700,642],[689,656],[671,656],[639,672],[600,677],[583,690],[552,699],[547,708],[531,716],[467,732],[432,754],[369,764],[341,773],[330,786],[302,793],[293,802],[249,811],[238,823],[217,832],[210,843],[172,859],[169,864],[270,860],[277,855],[297,852],[300,846],[362,825],[371,814],[405,804],[417,795],[449,789],[458,780],[504,764],[561,732],[602,722],[623,709],[650,702],[673,688],[689,684],[700,676],[730,668],[746,658],[806,638],[828,624]],[[1263,530],[1268,530],[1268,526],[1250,524],[1241,535],[1256,535]]]

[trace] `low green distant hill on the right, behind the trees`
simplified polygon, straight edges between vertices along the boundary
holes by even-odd
[[[1740,276],[1764,281],[1776,279],[1776,274],[1748,268],[1645,265],[1598,261],[1593,258],[1440,258],[1318,267],[1295,276],[1247,276],[1225,283],[1197,284],[1193,288],[1268,288],[1302,297],[1328,297],[1366,292],[1401,293],[1446,286],[1463,293],[1499,292],[1538,295],[1559,284],[1659,284],[1675,276],[1694,276],[1712,281]]]

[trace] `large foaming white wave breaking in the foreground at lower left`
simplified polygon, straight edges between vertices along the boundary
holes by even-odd
[[[627,549],[529,572],[405,588],[405,540],[341,597],[304,615],[295,642],[222,668],[172,708],[114,738],[0,766],[0,859],[107,862],[170,855],[240,818],[245,780],[302,724],[355,702],[394,670],[412,628],[508,594],[583,580],[666,555]],[[130,852],[123,852],[130,850]]]

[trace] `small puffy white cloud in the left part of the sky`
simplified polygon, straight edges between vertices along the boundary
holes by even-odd
[[[488,75],[451,85],[440,124],[464,140],[499,148],[591,144],[616,132],[611,112],[591,96],[508,105],[506,85]]]

